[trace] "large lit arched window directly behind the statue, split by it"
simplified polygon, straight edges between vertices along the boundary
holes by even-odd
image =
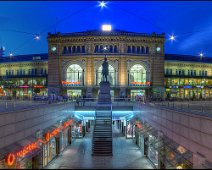
[[[109,74],[108,74],[108,81],[110,82],[111,85],[115,85],[116,84],[116,73],[115,73],[115,69],[113,68],[113,66],[111,66],[109,64]],[[103,76],[102,76],[102,66],[99,67],[99,69],[97,70],[96,73],[96,85],[99,85],[99,83],[103,80]]]

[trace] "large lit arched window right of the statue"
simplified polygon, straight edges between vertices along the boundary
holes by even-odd
[[[129,83],[134,84],[133,82],[146,82],[146,69],[140,64],[130,69]]]

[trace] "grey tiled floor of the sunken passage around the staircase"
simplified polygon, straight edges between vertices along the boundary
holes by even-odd
[[[91,135],[87,134],[83,139],[76,139],[45,169],[153,169],[132,139],[122,137],[115,125],[113,135],[112,157],[93,157]]]

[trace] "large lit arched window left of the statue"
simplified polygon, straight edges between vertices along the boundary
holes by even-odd
[[[68,67],[66,72],[66,81],[73,83],[79,82],[79,84],[83,84],[83,70],[78,64],[72,64]]]

